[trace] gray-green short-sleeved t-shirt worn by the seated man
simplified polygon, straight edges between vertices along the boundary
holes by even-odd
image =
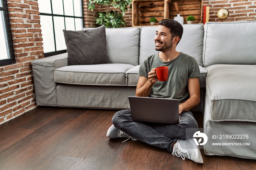
[[[172,98],[178,99],[179,103],[184,103],[189,97],[188,79],[201,76],[196,59],[180,53],[176,59],[163,62],[156,53],[142,61],[138,74],[148,77],[148,72],[159,66],[169,67],[168,79],[167,81],[157,81],[148,97]]]

